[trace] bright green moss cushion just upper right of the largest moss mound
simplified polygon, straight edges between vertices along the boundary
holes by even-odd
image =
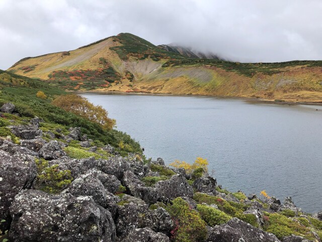
[[[197,210],[200,213],[201,218],[211,227],[226,223],[231,219],[231,217],[224,212],[206,205],[198,204]]]

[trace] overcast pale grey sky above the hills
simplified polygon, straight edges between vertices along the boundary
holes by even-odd
[[[0,0],[0,69],[121,32],[240,62],[322,59],[322,0]]]

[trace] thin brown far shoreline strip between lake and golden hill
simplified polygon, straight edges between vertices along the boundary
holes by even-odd
[[[237,96],[214,96],[214,95],[200,95],[200,94],[170,94],[170,93],[149,93],[149,92],[122,92],[122,91],[68,91],[70,93],[76,94],[99,94],[99,95],[150,95],[150,96],[195,96],[195,97],[214,97],[214,98],[229,98],[229,99],[242,99],[247,102],[257,102],[257,103],[267,103],[267,104],[279,104],[279,105],[322,105],[322,102],[305,102],[305,101],[276,101],[273,99],[262,99],[256,97],[237,97]]]

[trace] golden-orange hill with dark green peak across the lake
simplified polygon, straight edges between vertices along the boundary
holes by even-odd
[[[23,58],[8,71],[74,91],[322,101],[322,61],[234,63],[200,59],[194,52],[189,58],[187,51],[121,33],[75,50]]]

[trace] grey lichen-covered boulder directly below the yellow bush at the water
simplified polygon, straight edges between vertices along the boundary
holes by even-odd
[[[177,197],[193,197],[193,189],[181,174],[173,175],[169,180],[158,181],[154,190],[160,202],[169,202]]]

